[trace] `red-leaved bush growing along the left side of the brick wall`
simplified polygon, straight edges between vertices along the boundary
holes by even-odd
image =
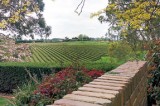
[[[21,96],[18,101],[23,101],[22,105],[28,104],[29,106],[48,105],[102,74],[104,72],[100,70],[89,71],[85,68],[75,70],[69,67],[56,74],[45,76],[42,83],[37,86],[37,89],[32,94],[27,95],[27,100],[24,100],[24,97]],[[17,92],[17,94],[21,93]]]

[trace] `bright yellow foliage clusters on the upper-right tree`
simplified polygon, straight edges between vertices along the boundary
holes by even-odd
[[[144,23],[160,16],[160,7],[157,7],[156,1],[135,0],[126,9],[120,9],[117,2],[109,4],[105,12],[114,14],[118,20],[118,25],[125,27],[130,26],[133,29],[141,29],[148,27]],[[94,15],[100,15],[98,12]],[[125,24],[124,24],[125,23]]]

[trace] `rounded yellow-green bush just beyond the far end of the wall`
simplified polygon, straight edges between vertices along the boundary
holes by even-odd
[[[126,41],[110,42],[108,44],[107,55],[124,62],[135,59],[143,60],[146,52],[140,49],[140,44],[136,46],[138,47],[132,47],[132,45]]]

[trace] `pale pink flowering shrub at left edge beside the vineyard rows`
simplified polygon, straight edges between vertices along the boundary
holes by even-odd
[[[23,62],[31,56],[29,45],[15,44],[15,41],[7,36],[1,35],[0,39],[0,61],[1,62]]]

